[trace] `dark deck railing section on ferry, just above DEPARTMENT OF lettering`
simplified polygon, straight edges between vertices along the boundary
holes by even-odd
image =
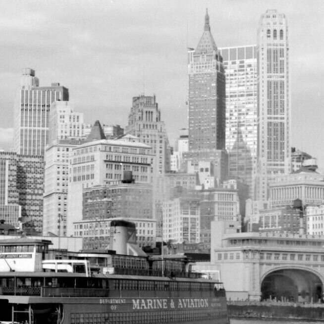
[[[101,288],[42,287],[42,297],[108,297],[109,290]]]

